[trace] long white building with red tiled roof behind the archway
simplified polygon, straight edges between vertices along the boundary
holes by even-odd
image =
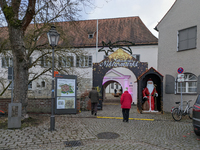
[[[73,49],[84,51],[85,55],[66,54],[65,59],[57,59],[61,60],[64,67],[73,68],[71,75],[76,75],[76,73],[82,75],[79,85],[77,85],[78,94],[91,89],[93,85],[93,64],[101,62],[119,48],[122,48],[138,61],[148,63],[148,68],[154,67],[157,69],[158,39],[147,29],[139,17],[77,21],[74,26],[69,24],[70,22],[60,22],[56,26],[66,32],[69,38],[68,42]],[[45,39],[41,38],[40,40]],[[64,45],[63,40],[60,40],[58,44]],[[38,58],[38,53],[32,54],[32,61]],[[0,61],[1,79],[3,78],[4,82],[8,84],[7,71],[8,67],[11,66],[12,57],[5,58],[1,55]],[[30,71],[40,72],[44,68],[50,67],[50,65],[48,60],[43,57],[40,60],[40,65],[32,67]],[[55,66],[59,65],[59,63],[55,64]],[[124,77],[130,76],[131,83],[135,87],[134,93],[137,93],[137,78],[130,70],[120,67],[115,68],[110,70],[105,78],[109,79],[111,84],[119,83],[117,79],[112,80],[116,77],[116,74]],[[121,87],[120,84],[119,87]],[[2,90],[3,87],[1,86]],[[11,88],[2,95],[5,98],[10,96]],[[31,82],[28,96],[30,98],[51,97],[51,72],[47,72]],[[134,99],[136,102],[137,96]]]

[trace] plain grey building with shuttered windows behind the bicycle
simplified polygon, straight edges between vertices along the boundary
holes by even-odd
[[[155,28],[159,32],[158,71],[164,75],[164,111],[181,101],[181,95],[187,101],[200,93],[199,5],[199,0],[176,0]],[[183,68],[182,83],[178,68]]]

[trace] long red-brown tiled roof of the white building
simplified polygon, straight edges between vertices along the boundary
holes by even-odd
[[[30,24],[27,31],[33,28]],[[40,26],[42,26],[40,24]],[[69,43],[71,47],[96,47],[97,20],[68,21],[55,23],[58,33],[64,33],[67,42],[59,40],[59,46],[65,46]],[[3,28],[0,28],[1,30]],[[43,32],[44,33],[44,32]],[[93,34],[93,38],[88,38]],[[7,36],[7,29],[4,29],[0,38]],[[61,35],[63,36],[63,35]],[[114,43],[117,41],[129,41],[135,45],[158,45],[158,39],[148,30],[139,17],[125,17],[98,20],[98,46],[102,47],[102,41],[105,43]],[[40,36],[38,44],[48,42],[45,34]],[[127,43],[120,43],[122,46]]]

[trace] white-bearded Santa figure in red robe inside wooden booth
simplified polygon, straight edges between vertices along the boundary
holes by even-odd
[[[143,99],[148,99],[149,111],[155,110],[154,97],[158,97],[156,88],[154,87],[153,81],[148,79],[146,88],[142,91]]]

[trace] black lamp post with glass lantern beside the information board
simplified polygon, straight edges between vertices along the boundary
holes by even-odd
[[[54,117],[54,47],[57,46],[60,34],[56,31],[55,26],[47,33],[49,44],[52,47],[52,90],[51,90],[51,118],[50,118],[50,131],[55,130],[55,117]]]

